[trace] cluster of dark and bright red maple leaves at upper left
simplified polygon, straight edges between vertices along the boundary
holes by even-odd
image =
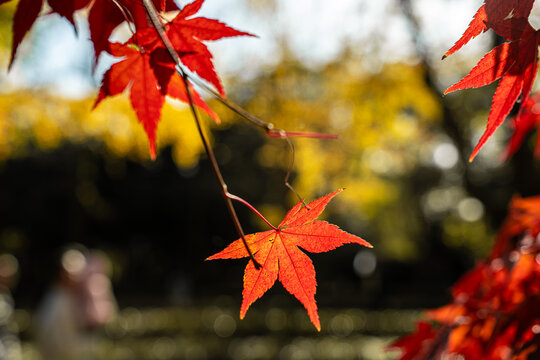
[[[10,0],[0,0],[0,5]],[[153,27],[143,0],[47,0],[52,13],[74,23],[74,13],[88,9],[90,40],[94,46],[96,61],[103,51],[122,58],[105,74],[94,105],[103,99],[130,89],[130,101],[139,122],[143,125],[150,143],[150,155],[156,154],[156,129],[166,96],[188,102],[188,94],[176,65],[158,32]],[[152,0],[160,14],[179,11],[173,0]],[[182,64],[202,79],[212,84],[224,96],[223,86],[212,63],[212,54],[202,41],[213,41],[224,37],[249,35],[235,30],[217,20],[194,17],[204,0],[195,0],[166,22],[166,36],[180,56]],[[44,6],[44,0],[20,0],[13,19],[13,45],[10,67],[17,49],[26,33],[35,23]],[[131,24],[133,34],[125,43],[110,43],[114,29],[125,21]],[[192,89],[190,92],[196,106],[214,120],[217,115]]]

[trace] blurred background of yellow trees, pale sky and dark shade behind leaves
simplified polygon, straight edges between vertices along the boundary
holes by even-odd
[[[112,60],[92,71],[84,11],[77,34],[40,18],[8,73],[16,2],[1,6],[0,318],[19,339],[14,353],[46,358],[47,299],[84,283],[89,304],[109,311],[89,315],[88,359],[395,358],[384,346],[449,301],[512,196],[538,191],[533,137],[501,160],[508,126],[467,161],[493,86],[442,96],[500,42],[488,32],[440,60],[481,3],[207,0],[201,10],[258,36],[209,45],[230,99],[278,128],[339,135],[294,140],[291,182],[306,199],[346,188],[324,216],[374,248],[310,255],[321,333],[280,285],[240,321],[247,261],[204,261],[237,235],[189,109],[165,106],[150,161],[126,96],[90,110]],[[283,184],[287,142],[208,102],[223,120],[205,119],[230,191],[279,223],[296,202]],[[266,230],[237,209],[246,232]]]

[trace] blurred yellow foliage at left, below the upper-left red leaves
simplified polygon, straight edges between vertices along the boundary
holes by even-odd
[[[45,92],[0,95],[0,160],[34,145],[43,150],[62,142],[102,142],[116,157],[148,158],[148,141],[126,96],[107,99],[91,111],[92,99],[66,100]],[[196,164],[203,150],[187,107],[166,104],[158,146],[172,146],[181,167]]]

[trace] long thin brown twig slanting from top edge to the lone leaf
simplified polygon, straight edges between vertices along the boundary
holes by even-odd
[[[255,256],[253,256],[253,253],[251,249],[249,248],[249,245],[246,241],[246,237],[244,234],[244,230],[242,228],[242,224],[240,224],[240,220],[238,219],[236,210],[234,209],[232,201],[228,196],[231,194],[227,190],[227,184],[225,183],[225,180],[223,179],[223,175],[221,174],[221,170],[219,169],[219,165],[217,163],[214,150],[210,146],[208,139],[206,138],[206,135],[202,129],[201,120],[199,119],[197,110],[195,109],[195,105],[193,103],[193,95],[191,94],[191,90],[190,90],[190,86],[188,82],[188,76],[186,72],[182,69],[182,67],[180,66],[180,57],[174,50],[174,47],[172,46],[171,41],[169,40],[169,38],[167,37],[167,34],[165,33],[165,27],[163,26],[163,23],[161,22],[161,19],[158,16],[158,13],[154,7],[154,4],[152,4],[150,0],[143,0],[143,4],[144,4],[144,8],[146,9],[148,16],[150,17],[150,20],[152,21],[152,24],[154,25],[154,28],[156,29],[161,40],[163,41],[163,44],[167,48],[169,55],[171,56],[173,61],[176,63],[176,69],[179,72],[180,76],[182,77],[182,80],[184,81],[184,86],[186,87],[186,93],[188,96],[189,107],[191,109],[191,113],[193,115],[195,123],[197,124],[197,130],[199,131],[199,135],[203,142],[206,154],[208,155],[208,159],[210,160],[210,163],[212,164],[212,170],[214,171],[214,174],[216,175],[216,178],[219,184],[221,185],[221,192],[222,192],[223,198],[225,199],[227,210],[229,210],[229,214],[233,220],[236,231],[242,238],[242,242],[244,243],[244,246],[249,254],[249,257],[253,261],[253,265],[255,266],[256,269],[260,269],[261,265],[257,262],[257,260],[255,260]]]

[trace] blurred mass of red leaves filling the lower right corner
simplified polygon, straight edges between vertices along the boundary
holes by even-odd
[[[491,255],[391,348],[401,360],[540,358],[540,197],[515,198]]]

